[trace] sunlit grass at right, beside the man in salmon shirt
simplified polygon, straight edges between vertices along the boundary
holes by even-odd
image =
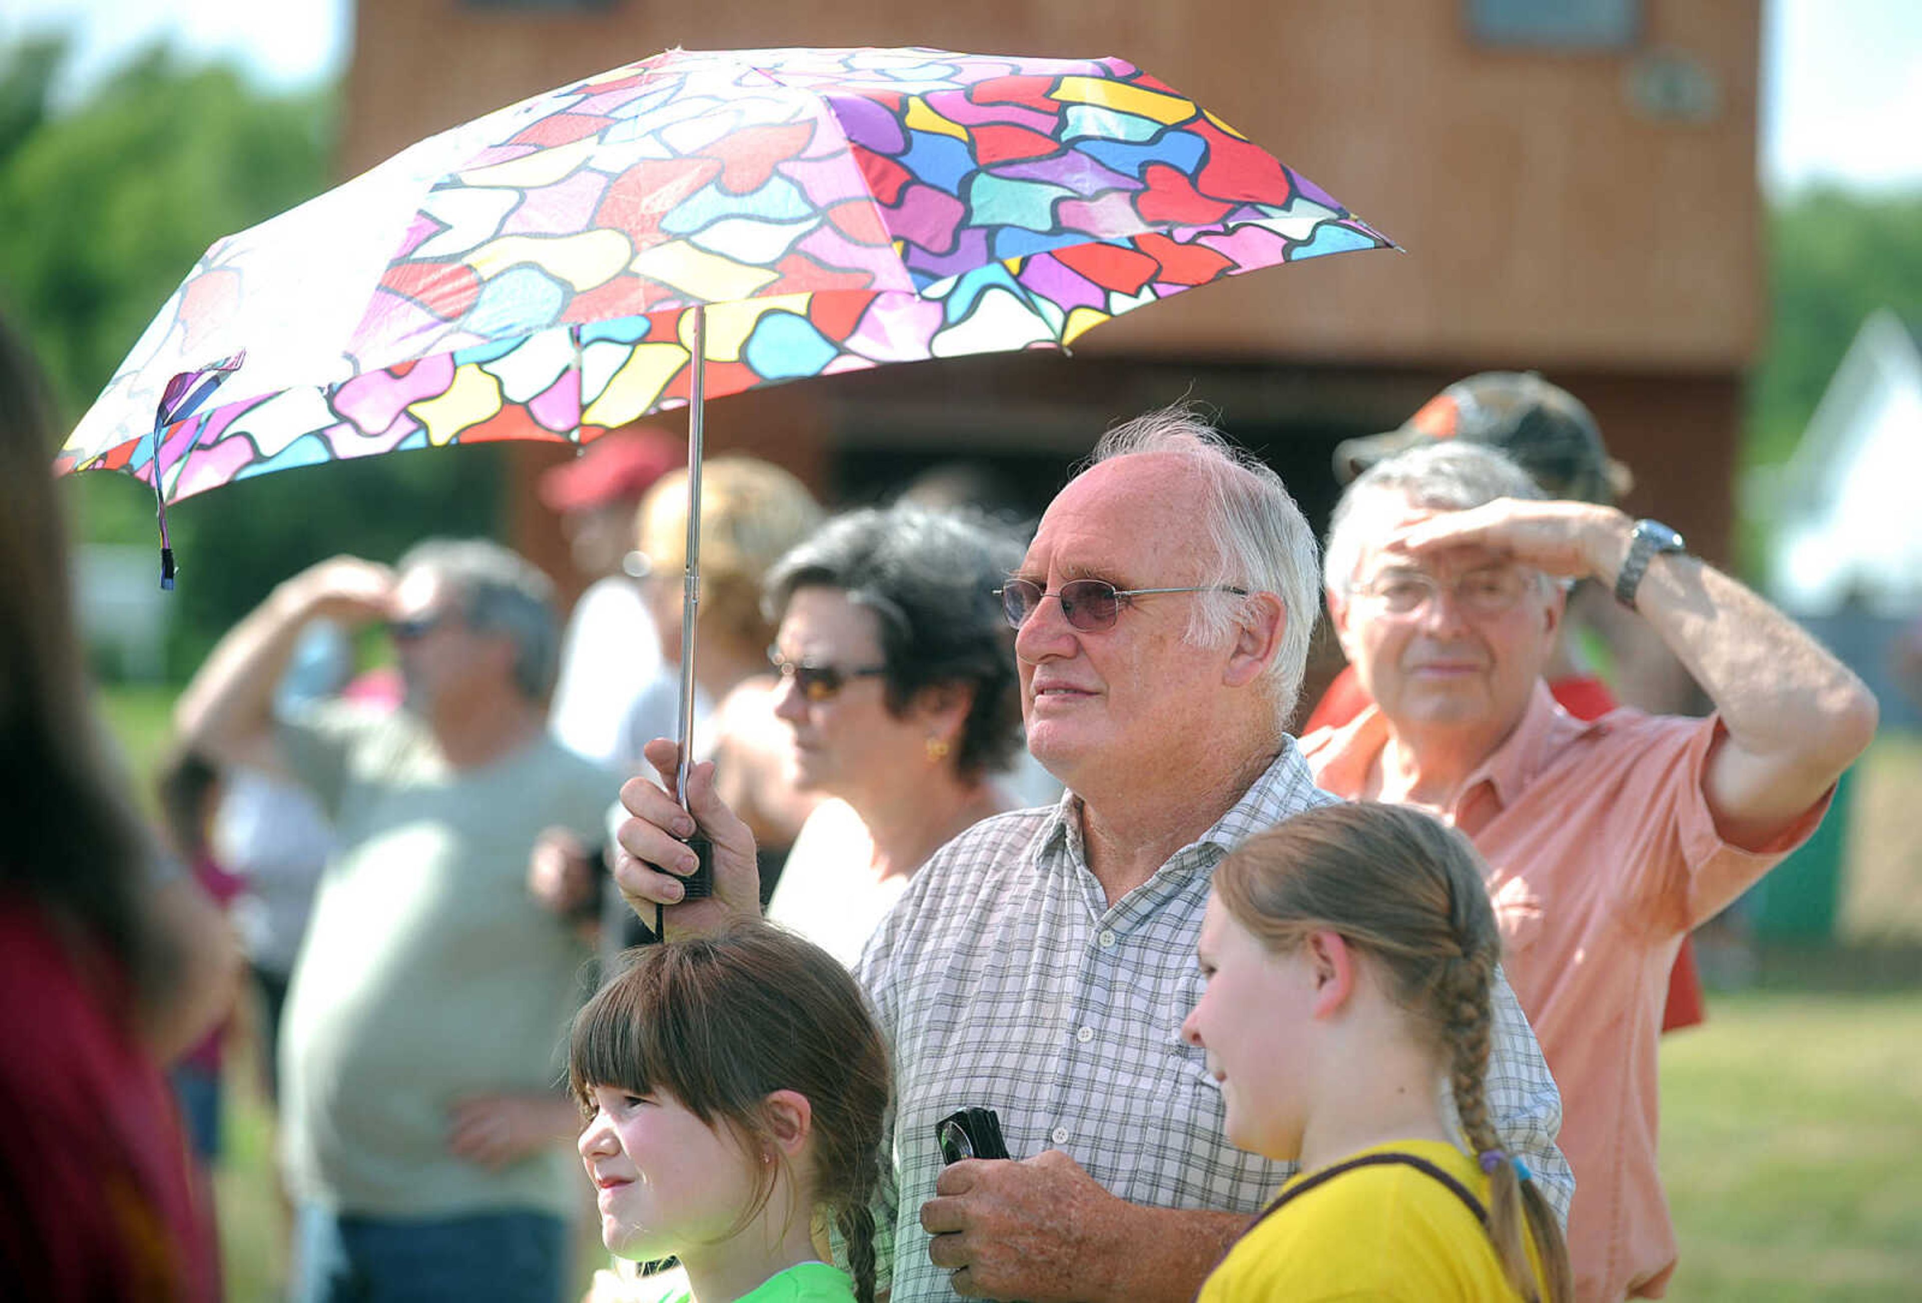
[[[1807,961],[1811,955],[1801,955]],[[1826,957],[1849,967],[1847,951]],[[1711,997],[1663,1044],[1676,1299],[1914,1299],[1922,1001],[1772,988]]]

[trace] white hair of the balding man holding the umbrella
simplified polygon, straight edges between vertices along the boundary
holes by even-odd
[[[1315,592],[1315,532],[1282,477],[1244,448],[1236,448],[1186,404],[1174,404],[1117,425],[1101,436],[1088,467],[1136,454],[1182,457],[1207,486],[1197,521],[1209,540],[1209,571],[1197,582],[1272,592],[1282,600],[1282,646],[1267,669],[1276,728],[1286,728],[1301,696],[1309,636],[1320,600]],[[1086,467],[1084,467],[1086,469]],[[1232,592],[1195,594],[1188,640],[1217,644],[1240,625],[1247,600]]]

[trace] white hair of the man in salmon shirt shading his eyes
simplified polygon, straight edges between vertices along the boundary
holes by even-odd
[[[1363,534],[1374,517],[1368,507],[1384,498],[1420,511],[1468,511],[1497,498],[1545,496],[1528,471],[1488,444],[1449,440],[1395,454],[1357,475],[1336,504],[1322,553],[1322,582],[1328,592],[1353,588],[1355,569],[1368,546]]]

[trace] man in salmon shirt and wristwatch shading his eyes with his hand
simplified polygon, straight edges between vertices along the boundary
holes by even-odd
[[[1374,705],[1301,751],[1324,790],[1418,805],[1488,859],[1503,967],[1563,1090],[1576,1297],[1659,1297],[1676,1261],[1655,1167],[1670,965],[1814,830],[1876,700],[1674,530],[1549,502],[1461,440],[1363,473],[1322,578]],[[1647,621],[1713,715],[1578,721],[1555,703],[1543,667],[1580,578]]]

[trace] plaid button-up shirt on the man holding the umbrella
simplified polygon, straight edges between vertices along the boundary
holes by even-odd
[[[1201,996],[1215,865],[1334,799],[1288,740],[1234,809],[1115,905],[1088,869],[1072,794],[969,828],[915,874],[855,969],[894,1051],[894,1184],[875,1211],[894,1303],[955,1297],[928,1261],[921,1205],[942,1168],[934,1124],[961,1107],[996,1109],[1017,1159],[1061,1149],[1130,1203],[1253,1215],[1274,1195],[1294,1167],[1226,1142],[1220,1088],[1180,1024]],[[1505,978],[1495,994],[1490,1111],[1566,1217],[1561,1095]]]

